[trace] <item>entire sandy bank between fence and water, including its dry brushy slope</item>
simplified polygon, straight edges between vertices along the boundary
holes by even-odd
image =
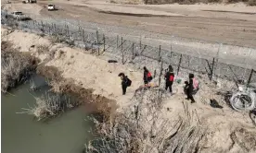
[[[197,103],[190,104],[184,100],[182,86],[176,83],[172,97],[161,88],[136,90],[143,83],[142,73],[129,71],[127,65],[109,64],[102,56],[84,53],[50,38],[19,30],[2,31],[3,40],[11,41],[20,52],[41,59],[41,65],[45,66],[38,66],[37,70],[56,80],[54,90],[77,94],[82,101],[96,100],[100,105],[103,103],[103,110],[108,108],[109,100],[117,102],[115,120],[98,124],[99,132],[107,138],[96,140],[87,148],[102,142],[105,146],[101,147],[110,152],[252,153],[256,150],[255,127],[245,114],[228,108],[214,94],[216,86],[206,80],[200,80]],[[133,80],[125,96],[118,78],[120,72]],[[212,108],[208,102],[211,99],[218,100],[224,108]]]

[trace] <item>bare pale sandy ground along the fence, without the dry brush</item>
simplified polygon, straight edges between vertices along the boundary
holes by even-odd
[[[155,100],[156,90],[141,91],[134,97],[135,89],[142,85],[143,81],[142,72],[131,65],[128,67],[122,64],[109,64],[104,60],[104,54],[96,57],[82,50],[70,48],[66,44],[54,43],[48,37],[19,30],[2,28],[1,38],[2,41],[12,42],[19,52],[31,53],[41,59],[45,66],[56,67],[59,72],[57,75],[70,80],[73,85],[90,89],[93,95],[115,100],[118,105],[117,114],[133,116],[134,106],[138,107],[140,132],[145,133],[144,138],[138,137],[142,138],[137,142],[139,152],[144,149],[146,152],[159,152],[158,147],[168,152],[167,148],[170,146],[165,148],[163,144],[172,145],[175,143],[174,140],[182,137],[183,134],[179,133],[178,137],[174,136],[175,139],[172,137],[175,129],[179,130],[175,125],[177,121],[188,123],[183,124],[184,129],[195,128],[197,133],[200,133],[201,129],[207,129],[200,134],[201,138],[195,135],[198,145],[191,145],[191,147],[199,147],[199,152],[252,153],[256,150],[253,145],[256,143],[256,130],[250,118],[246,114],[230,109],[225,104],[224,98],[216,94],[217,87],[203,78],[200,79],[202,88],[196,96],[197,103],[190,104],[185,100],[182,85],[174,84],[175,94],[171,97],[167,92],[162,91],[163,99],[160,107],[152,106],[152,110],[149,110],[147,106],[152,104],[150,101]],[[39,52],[39,48],[45,50]],[[129,69],[134,69],[134,71],[129,71]],[[121,80],[118,77],[120,72],[124,72],[133,80],[133,85],[128,88],[125,96],[122,96]],[[140,99],[140,97],[144,98]],[[209,103],[213,99],[224,108],[212,108]],[[104,100],[101,99],[101,102]],[[156,113],[151,113],[151,111]],[[133,125],[131,120],[133,121],[131,117],[127,119]],[[153,133],[150,129],[154,129]],[[160,132],[164,132],[164,135],[160,135]],[[186,141],[190,142],[189,136]],[[187,147],[186,141],[184,141],[184,147]],[[151,149],[146,149],[147,147]]]

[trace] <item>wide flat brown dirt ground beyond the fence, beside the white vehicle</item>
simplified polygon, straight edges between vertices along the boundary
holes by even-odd
[[[256,46],[256,7],[254,7],[254,11],[252,8],[237,7],[237,12],[235,11],[236,7],[233,9],[227,7],[223,8],[226,9],[224,12],[222,8],[216,10],[211,7],[189,10],[186,7],[178,6],[176,8],[173,6],[175,8],[173,9],[173,7],[167,6],[121,6],[100,2],[58,0],[56,4],[60,8],[59,11],[48,12],[43,9],[41,15],[55,18],[76,18],[105,25],[140,29],[203,41]],[[151,12],[147,12],[148,10]],[[137,17],[142,16],[145,12],[153,17]],[[160,17],[164,15],[162,12],[166,13],[166,17]],[[129,13],[134,14],[127,16]],[[173,16],[168,13],[172,13]],[[159,17],[154,17],[154,15],[159,15]]]

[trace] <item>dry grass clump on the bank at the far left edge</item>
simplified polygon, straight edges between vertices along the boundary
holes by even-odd
[[[38,61],[29,53],[19,53],[7,41],[1,45],[1,90],[5,93],[31,76]]]

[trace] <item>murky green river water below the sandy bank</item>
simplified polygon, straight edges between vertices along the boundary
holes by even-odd
[[[38,96],[48,89],[45,79],[33,76],[39,91],[32,92],[30,82],[2,94],[2,152],[3,153],[82,153],[83,144],[93,135],[94,124],[88,120],[86,106],[67,111],[46,122],[37,121],[22,108],[33,106]]]

